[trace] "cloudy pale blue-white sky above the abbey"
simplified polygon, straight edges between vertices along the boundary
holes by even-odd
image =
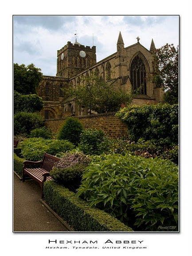
[[[117,51],[119,32],[125,47],[149,49],[179,44],[179,16],[13,16],[13,62],[35,64],[43,75],[55,76],[57,50],[68,41],[96,46],[97,61]]]

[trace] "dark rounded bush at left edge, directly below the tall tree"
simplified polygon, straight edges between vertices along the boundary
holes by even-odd
[[[36,112],[43,108],[43,100],[36,94],[23,95],[14,91],[14,114]]]

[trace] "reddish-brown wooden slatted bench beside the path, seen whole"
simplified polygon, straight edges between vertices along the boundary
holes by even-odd
[[[42,161],[24,161],[24,167],[23,167],[23,177],[22,181],[25,181],[26,176],[30,176],[33,180],[37,181],[41,186],[41,198],[43,198],[43,184],[46,180],[52,180],[49,172],[53,168],[53,165],[58,163],[60,161],[60,158],[56,156],[51,156],[47,153],[44,154]],[[39,168],[27,168],[27,165],[37,165],[39,164]]]

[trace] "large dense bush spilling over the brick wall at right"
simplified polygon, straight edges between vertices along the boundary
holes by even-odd
[[[178,144],[178,104],[133,105],[116,116],[127,124],[132,141],[164,139],[168,144]]]

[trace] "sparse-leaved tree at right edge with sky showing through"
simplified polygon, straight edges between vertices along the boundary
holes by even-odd
[[[153,80],[159,87],[164,86],[165,102],[178,103],[179,93],[179,49],[173,44],[165,44],[156,50],[153,56],[154,76]]]

